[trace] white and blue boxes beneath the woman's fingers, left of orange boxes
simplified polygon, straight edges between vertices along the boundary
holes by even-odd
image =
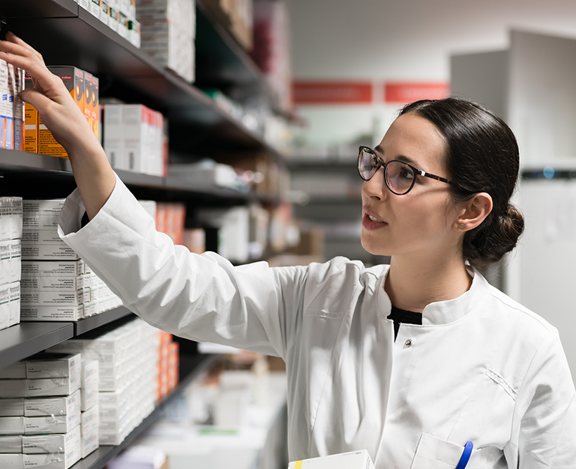
[[[0,59],[0,148],[24,150],[24,70]]]

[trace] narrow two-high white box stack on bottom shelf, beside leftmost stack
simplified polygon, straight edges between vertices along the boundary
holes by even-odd
[[[86,458],[100,446],[100,408],[98,392],[100,387],[100,364],[98,360],[82,360],[80,385],[82,458]]]

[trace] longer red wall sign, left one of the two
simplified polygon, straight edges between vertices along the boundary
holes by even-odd
[[[296,104],[372,104],[372,82],[294,82]]]

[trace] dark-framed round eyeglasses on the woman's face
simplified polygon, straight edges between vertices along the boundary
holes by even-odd
[[[459,187],[454,181],[450,181],[440,176],[421,171],[408,163],[399,160],[391,160],[384,163],[374,153],[372,148],[361,146],[358,150],[358,173],[365,181],[372,179],[380,167],[384,168],[384,181],[386,187],[396,195],[405,195],[414,187],[416,176],[425,176],[437,181],[446,182]]]

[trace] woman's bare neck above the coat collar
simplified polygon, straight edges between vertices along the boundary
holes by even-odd
[[[462,257],[437,262],[392,257],[384,289],[395,307],[422,312],[427,304],[466,293],[471,284]]]

